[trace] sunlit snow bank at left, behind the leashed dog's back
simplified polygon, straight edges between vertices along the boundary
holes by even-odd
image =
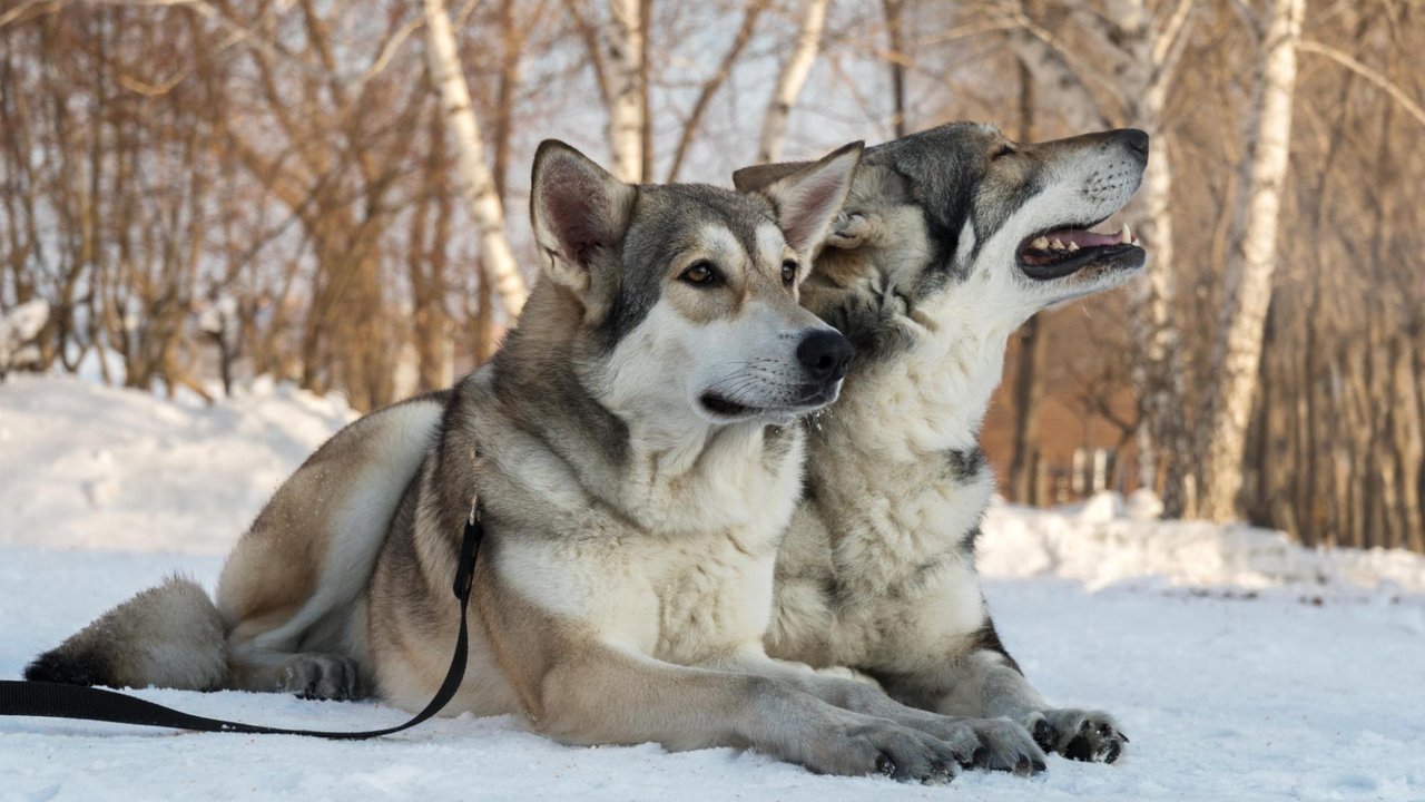
[[[0,384],[0,542],[225,554],[351,420],[341,397],[271,381],[207,408],[13,375]]]

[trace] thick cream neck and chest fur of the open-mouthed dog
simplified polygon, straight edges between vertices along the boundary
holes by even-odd
[[[1007,334],[976,310],[922,313],[916,345],[861,365],[812,437],[815,514],[788,532],[774,654],[875,665],[983,622],[968,547],[993,477],[962,462],[978,454]]]

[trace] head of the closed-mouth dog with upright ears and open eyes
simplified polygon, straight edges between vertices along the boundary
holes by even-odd
[[[754,193],[626,184],[574,148],[534,157],[547,278],[573,298],[586,384],[626,417],[785,422],[836,398],[849,342],[799,304],[859,143]]]

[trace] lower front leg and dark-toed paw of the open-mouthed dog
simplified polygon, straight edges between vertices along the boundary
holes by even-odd
[[[998,638],[949,662],[928,685],[949,688],[933,708],[946,715],[1003,716],[1022,722],[1046,752],[1074,761],[1112,763],[1123,753],[1127,735],[1110,714],[1054,708],[1029,684]]]

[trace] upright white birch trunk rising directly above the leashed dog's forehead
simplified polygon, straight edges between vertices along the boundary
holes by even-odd
[[[623,181],[643,181],[643,47],[638,0],[608,0],[603,44],[608,49],[608,147],[611,173]]]

